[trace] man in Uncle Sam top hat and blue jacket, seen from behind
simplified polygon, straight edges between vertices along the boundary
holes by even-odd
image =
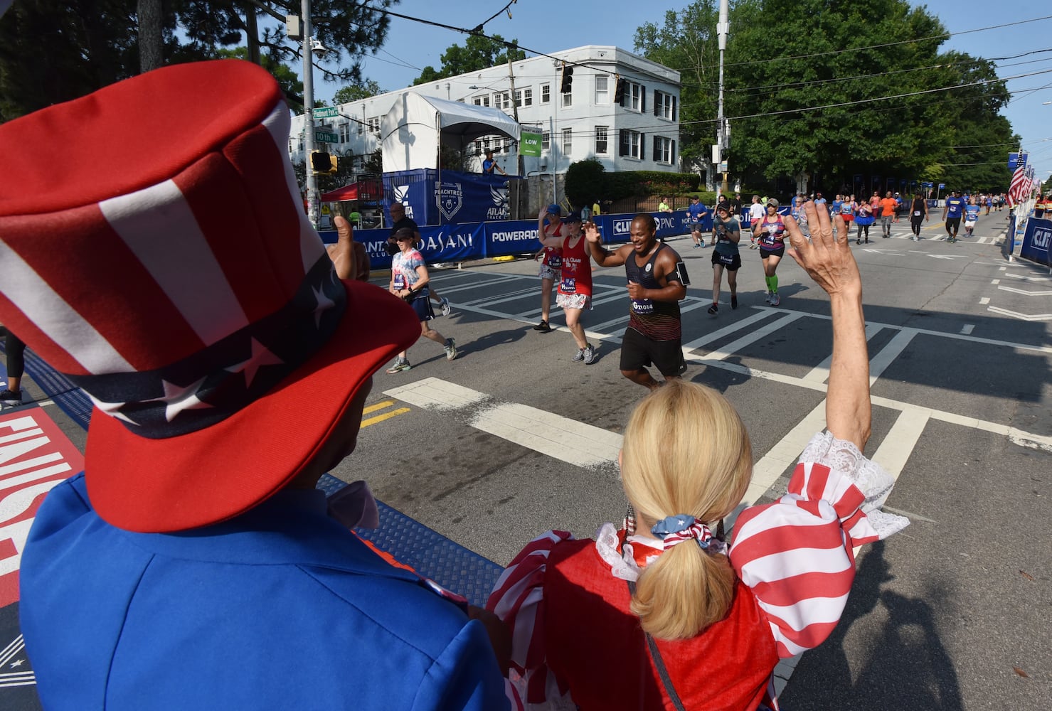
[[[95,404],[22,561],[46,709],[508,707],[484,626],[315,489],[420,325],[335,273],[288,129],[237,60],[0,125],[0,322]]]

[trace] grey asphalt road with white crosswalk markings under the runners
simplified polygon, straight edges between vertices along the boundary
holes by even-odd
[[[845,618],[785,672],[784,708],[1047,705],[1052,278],[1002,257],[1006,216],[984,217],[976,236],[956,244],[939,239],[933,220],[920,242],[907,239],[904,221],[892,239],[882,240],[877,224],[871,244],[853,246],[873,377],[866,453],[898,475],[888,507],[912,524],[859,554]],[[756,463],[747,499],[771,501],[822,426],[831,345],[825,294],[786,258],[782,304],[767,306],[758,251],[744,249],[740,306],[730,308],[725,280],[712,317],[711,248],[692,249],[689,238],[669,244],[692,278],[683,304],[685,377],[737,408]],[[645,394],[619,371],[624,271],[595,270],[598,303],[583,318],[599,346],[592,365],[571,362],[575,346],[558,309],[551,321],[562,328],[531,329],[535,273],[529,260],[432,268],[432,283],[453,303],[433,325],[460,353],[447,362],[438,344],[421,340],[411,370],[379,372],[358,449],[333,472],[367,480],[388,505],[502,565],[545,530],[590,536],[620,521],[625,499],[610,438]],[[82,446],[79,428],[49,411]],[[565,436],[534,441],[540,428]],[[598,453],[567,461],[589,448]],[[25,704],[11,708],[33,708]]]

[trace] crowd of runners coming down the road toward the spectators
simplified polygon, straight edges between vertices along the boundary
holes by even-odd
[[[752,196],[751,203],[743,206],[741,195],[733,198],[721,196],[712,209],[711,233],[704,228],[708,208],[694,197],[687,208],[687,223],[694,249],[712,247],[712,304],[708,313],[720,313],[720,293],[726,273],[727,289],[730,291],[730,308],[736,309],[737,271],[742,268],[742,252],[745,247],[742,235],[749,235],[749,249],[760,251],[766,286],[765,302],[778,306],[778,263],[786,255],[786,240],[790,223],[800,226],[809,236],[808,210],[805,206],[813,202],[816,210],[828,215],[835,226],[837,239],[851,239],[855,244],[870,243],[870,227],[878,223],[882,239],[891,237],[892,225],[904,218],[909,221],[912,240],[920,239],[922,225],[931,219],[929,201],[920,194],[904,199],[899,194],[886,191],[883,196],[874,190],[868,200],[858,200],[854,195],[836,195],[828,202],[822,192],[808,199],[796,195],[781,210],[778,200]],[[668,201],[663,199],[663,205]],[[943,207],[947,242],[956,242],[957,232],[964,220],[965,236],[971,237],[983,209],[999,210],[1004,206],[1003,196],[982,195],[963,197],[959,191],[950,192]],[[442,344],[446,357],[457,356],[453,340],[446,339],[428,326],[434,318],[431,301],[442,306],[443,314],[449,313],[448,301],[439,298],[429,287],[427,267],[414,245],[420,240],[419,227],[405,217],[404,207],[394,202],[390,205],[391,216],[397,220],[390,232],[389,251],[392,253],[389,289],[392,293],[410,301],[421,322],[421,334]],[[813,220],[813,218],[812,218]],[[590,365],[596,361],[598,346],[589,343],[582,322],[584,311],[592,306],[592,266],[625,268],[627,281],[626,296],[629,301],[629,321],[621,348],[620,369],[622,374],[648,388],[662,383],[651,375],[648,368],[661,372],[666,380],[679,378],[686,370],[682,351],[682,328],[680,301],[686,298],[686,266],[671,246],[656,237],[658,225],[649,214],[635,216],[629,227],[629,242],[615,249],[603,246],[599,227],[582,219],[582,210],[564,211],[558,204],[543,207],[538,215],[539,249],[534,260],[540,261],[538,277],[541,279],[541,321],[533,330],[549,332],[551,293],[555,291],[555,306],[563,309],[566,327],[574,342],[571,360]],[[873,239],[876,239],[874,229]],[[400,353],[387,372],[397,373],[410,368],[406,353]]]

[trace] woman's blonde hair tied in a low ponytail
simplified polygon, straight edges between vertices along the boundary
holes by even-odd
[[[723,395],[672,380],[632,413],[621,466],[641,526],[688,514],[715,528],[745,495],[752,448]],[[643,571],[631,609],[653,636],[689,638],[727,614],[733,591],[734,573],[725,555],[683,542]]]

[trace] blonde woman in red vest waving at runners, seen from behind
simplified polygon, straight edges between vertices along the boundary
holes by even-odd
[[[879,511],[892,480],[861,451],[869,367],[847,230],[834,237],[825,210],[805,209],[811,242],[786,222],[790,255],[830,297],[827,431],[804,450],[785,496],[737,517],[728,552],[720,523],[752,471],[742,420],[693,383],[648,395],[625,429],[624,524],[605,524],[595,540],[540,536],[490,596],[511,629],[511,680],[527,708],[776,708],[772,671],[832,631],[852,549],[909,523]]]

